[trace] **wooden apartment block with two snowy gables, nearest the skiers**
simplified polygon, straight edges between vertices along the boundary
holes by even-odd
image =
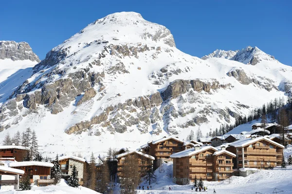
[[[233,172],[233,158],[235,154],[213,146],[196,145],[170,156],[173,159],[173,182],[188,184],[195,177],[203,180],[223,180]]]

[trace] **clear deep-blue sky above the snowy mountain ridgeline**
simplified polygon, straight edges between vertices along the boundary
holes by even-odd
[[[193,56],[250,45],[292,65],[291,9],[292,0],[1,0],[0,40],[26,41],[43,59],[94,20],[134,11]]]

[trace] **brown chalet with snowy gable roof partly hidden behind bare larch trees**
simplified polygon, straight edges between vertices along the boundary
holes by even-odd
[[[145,176],[147,171],[153,168],[154,157],[136,150],[128,151],[123,154],[116,155],[116,159],[118,160],[118,177],[123,176],[124,166],[126,165],[127,159],[129,159],[129,157],[135,157],[135,159],[137,159],[141,176]]]

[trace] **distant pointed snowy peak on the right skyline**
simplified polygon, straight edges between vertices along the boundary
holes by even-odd
[[[274,56],[264,53],[257,47],[251,46],[247,46],[245,49],[237,52],[231,60],[251,65],[256,65],[260,61],[276,61]]]

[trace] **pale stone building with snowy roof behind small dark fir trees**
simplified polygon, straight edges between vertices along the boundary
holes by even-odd
[[[61,165],[62,178],[67,180],[72,174],[73,165],[75,165],[78,171],[78,182],[83,185],[83,176],[85,169],[85,159],[75,157],[75,156],[62,156],[59,157],[59,163]]]

